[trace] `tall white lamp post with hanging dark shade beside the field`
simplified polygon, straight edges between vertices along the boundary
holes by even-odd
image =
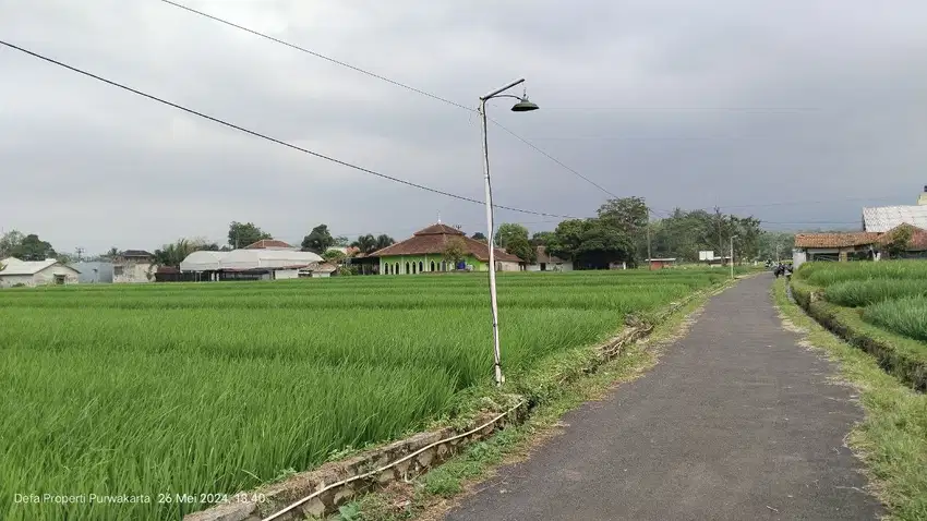
[[[498,347],[498,305],[496,301],[495,242],[493,240],[493,191],[492,183],[490,182],[490,145],[486,132],[486,101],[493,98],[515,98],[518,102],[511,107],[513,112],[529,112],[531,110],[538,110],[538,106],[528,100],[527,93],[522,94],[520,97],[513,96],[510,94],[503,94],[509,88],[522,83],[525,83],[523,77],[480,97],[480,121],[482,123],[481,128],[483,131],[483,177],[485,178],[486,185],[486,231],[489,233],[486,235],[486,245],[490,249],[490,305],[492,306],[493,313],[493,355],[495,361],[494,367],[496,386],[502,386],[503,381],[505,381],[505,377],[502,374],[502,355]]]

